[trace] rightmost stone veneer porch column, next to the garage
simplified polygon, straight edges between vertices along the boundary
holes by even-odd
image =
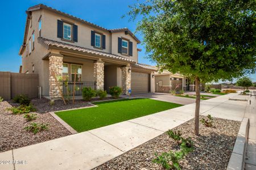
[[[131,89],[131,70],[129,69],[131,69],[130,66],[122,67],[122,87],[125,95],[128,95],[128,90]]]

